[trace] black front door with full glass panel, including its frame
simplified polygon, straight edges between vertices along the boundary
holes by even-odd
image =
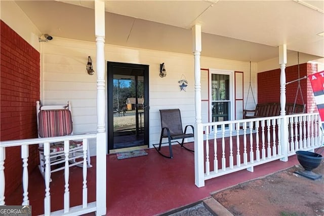
[[[108,148],[148,146],[148,65],[108,62]]]

